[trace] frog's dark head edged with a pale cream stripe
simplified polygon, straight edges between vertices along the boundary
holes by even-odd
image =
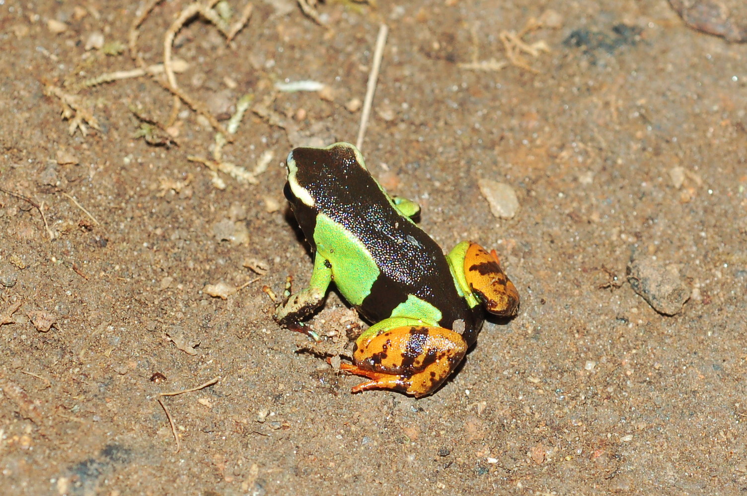
[[[346,142],[324,148],[294,148],[285,164],[288,166],[285,196],[291,203],[300,201],[306,207],[314,207],[320,195],[338,189],[341,181],[350,184],[370,178],[361,152]]]

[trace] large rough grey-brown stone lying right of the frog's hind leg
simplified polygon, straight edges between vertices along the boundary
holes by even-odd
[[[627,280],[651,307],[665,316],[680,313],[690,298],[690,291],[682,283],[675,264],[665,264],[654,258],[631,260],[627,266]]]

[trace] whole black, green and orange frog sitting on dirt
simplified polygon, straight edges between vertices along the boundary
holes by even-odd
[[[331,283],[368,321],[352,363],[368,380],[352,392],[385,389],[422,398],[435,392],[477,341],[486,313],[518,312],[516,286],[495,250],[463,241],[448,254],[415,220],[415,201],[389,195],[347,142],[294,148],[283,192],[314,266],[308,286],[286,287],[275,320],[303,330]]]

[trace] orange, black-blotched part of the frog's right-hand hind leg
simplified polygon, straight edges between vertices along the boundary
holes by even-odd
[[[470,243],[465,254],[465,279],[490,313],[512,316],[518,310],[518,291],[500,268],[498,254]]]

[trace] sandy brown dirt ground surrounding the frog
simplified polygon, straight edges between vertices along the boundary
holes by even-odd
[[[147,65],[187,4],[145,16]],[[327,27],[276,0],[231,42],[199,18],[176,34],[176,81],[211,115],[254,95],[223,160],[273,153],[256,184],[218,172],[219,189],[187,160],[215,131],[184,103],[170,122],[158,81],[81,87],[137,67],[143,4],[0,1],[3,494],[747,490],[747,45],[666,0],[316,8]],[[521,293],[420,400],[350,394],[360,378],[302,351],[261,291],[309,277],[282,161],[355,141],[381,22],[368,166],[445,249],[496,248]],[[300,80],[327,87],[274,90]],[[512,219],[484,180],[515,190]]]

